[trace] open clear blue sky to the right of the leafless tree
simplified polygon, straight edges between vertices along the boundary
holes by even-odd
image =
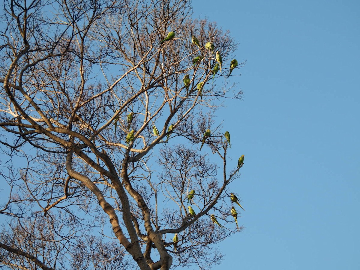
[[[360,2],[193,6],[230,30],[247,60],[233,71],[243,100],[219,112],[234,164],[245,154],[232,184],[245,229],[219,244],[215,268],[360,269]]]

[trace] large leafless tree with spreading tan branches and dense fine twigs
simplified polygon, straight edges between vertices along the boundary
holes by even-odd
[[[4,1],[0,269],[221,261],[214,244],[242,229],[229,197],[242,164],[226,168],[214,117],[242,94],[226,82],[237,44],[191,12],[187,0]]]

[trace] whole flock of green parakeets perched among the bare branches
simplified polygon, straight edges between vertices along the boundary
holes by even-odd
[[[165,39],[163,39],[162,41],[160,41],[160,44],[163,44],[163,42],[166,42],[166,41],[169,41],[169,40],[172,40],[174,39],[175,37],[175,32],[169,32],[167,37]],[[195,37],[195,36],[192,36],[192,44],[195,45],[195,46],[198,46],[199,49],[201,49],[201,45],[199,43],[199,40]],[[212,44],[211,42],[206,42],[205,44],[205,49],[207,50],[210,50],[210,51],[214,51],[215,49],[215,45]],[[204,59],[203,56],[198,56],[198,57],[195,57],[194,60],[193,60],[193,66],[195,66],[195,64],[199,63],[202,59]],[[221,54],[219,51],[216,51],[216,54],[215,54],[215,59],[216,59],[216,64],[214,66],[214,68],[211,70],[212,72],[212,80],[214,80],[214,77],[216,75],[216,73],[220,70],[221,72],[221,65],[222,65],[222,57],[221,57]],[[234,70],[234,68],[236,68],[238,65],[238,61],[236,59],[233,59],[231,60],[230,62],[230,72],[229,72],[229,75],[228,77],[230,76],[231,72]],[[186,92],[188,93],[189,91],[189,86],[190,86],[190,77],[188,74],[186,74],[184,76],[184,79],[183,79],[183,83],[184,83],[184,86],[186,88]],[[198,93],[199,93],[199,96],[202,98],[202,86],[203,86],[204,82],[199,82],[198,85],[197,85],[197,89],[198,89]],[[134,113],[129,113],[129,115],[127,116],[127,129],[130,130],[130,126],[131,126],[131,122],[132,122],[132,119],[133,119],[133,116],[134,116]],[[119,118],[116,118],[115,119],[115,132],[116,132],[116,127],[117,127],[117,122],[118,122]],[[172,132],[174,128],[174,125],[170,125],[168,127],[168,134],[167,134],[167,138],[166,138],[166,141],[168,141],[169,137],[170,137],[170,134]],[[203,139],[202,139],[202,144],[201,144],[201,147],[200,147],[200,150],[202,149],[205,141],[207,138],[210,137],[210,134],[211,134],[211,130],[210,129],[207,129],[204,133],[204,136],[203,136]],[[134,135],[135,135],[135,130],[131,130],[127,135],[126,135],[126,139],[125,139],[125,142],[127,144],[130,144],[131,141],[134,140]],[[158,129],[156,128],[155,125],[153,125],[153,135],[154,136],[159,136],[159,131]],[[226,131],[225,134],[225,139],[227,141],[227,143],[229,144],[229,147],[231,148],[231,144],[230,144],[230,133],[229,131]],[[239,160],[238,160],[238,167],[240,167],[243,163],[244,163],[244,155],[242,155]],[[189,192],[189,194],[187,195],[187,199],[188,199],[188,203],[190,203],[193,198],[194,198],[194,195],[195,195],[195,190],[191,190]],[[241,204],[239,203],[239,199],[236,197],[236,195],[234,193],[230,193],[230,200],[231,200],[231,203],[236,203],[238,204],[244,211],[245,209],[241,206]],[[190,215],[191,217],[195,217],[196,216],[196,213],[195,211],[193,210],[193,208],[191,206],[188,206],[188,215]],[[236,227],[238,227],[238,213],[235,209],[234,206],[231,207],[231,210],[230,210],[230,215],[234,217],[235,219],[235,223],[236,223]],[[211,221],[214,223],[214,224],[217,224],[218,226],[220,226],[221,228],[225,228],[223,225],[221,225],[219,223],[219,221],[217,221],[215,215],[210,215],[210,219]],[[173,238],[173,242],[174,242],[174,251],[176,251],[176,246],[177,246],[177,242],[179,242],[179,237],[177,236],[177,233],[175,234],[174,238]]]

